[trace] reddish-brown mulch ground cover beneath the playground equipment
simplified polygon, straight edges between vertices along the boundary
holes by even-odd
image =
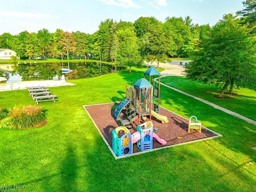
[[[84,106],[88,114],[98,127],[98,130],[102,133],[102,136],[106,139],[108,144],[112,148],[112,130],[120,126],[120,121],[114,119],[114,111],[119,103],[108,103],[108,104],[98,104],[98,105],[88,105]],[[125,110],[123,110],[125,113]],[[154,128],[158,128],[157,135],[164,139],[167,143],[164,146],[172,146],[175,144],[181,144],[185,142],[190,142],[194,140],[201,140],[206,138],[212,138],[216,136],[221,136],[216,132],[204,128],[202,125],[201,133],[197,132],[194,129],[190,130],[188,133],[188,120],[178,116],[166,110],[164,108],[160,109],[160,114],[166,116],[169,120],[168,123],[162,124],[161,121],[157,120],[152,116],[152,122]],[[149,118],[146,121],[150,120]],[[200,121],[200,120],[199,120]],[[140,122],[142,124],[143,122]],[[137,131],[136,124],[132,124],[132,128],[129,129],[130,133],[133,134]],[[178,137],[178,138],[177,138]],[[164,147],[157,140],[153,140],[153,148],[162,148]],[[140,152],[136,144],[133,144],[133,153]]]

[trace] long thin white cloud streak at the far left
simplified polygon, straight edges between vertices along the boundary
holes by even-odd
[[[24,13],[12,11],[0,11],[0,16],[5,17],[19,17],[19,18],[59,18],[59,16],[41,14],[41,13]]]

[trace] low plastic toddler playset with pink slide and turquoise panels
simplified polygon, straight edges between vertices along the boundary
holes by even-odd
[[[123,132],[123,135],[119,137],[119,134]],[[153,138],[156,138],[162,145],[166,144],[166,141],[159,138],[153,132],[153,123],[147,121],[137,126],[137,131],[130,134],[130,131],[123,126],[120,126],[112,130],[112,148],[116,156],[124,156],[132,154],[133,144],[137,143],[138,148],[141,151],[153,149]]]

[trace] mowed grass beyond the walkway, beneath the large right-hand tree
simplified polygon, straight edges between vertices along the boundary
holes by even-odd
[[[234,89],[233,93],[238,95],[224,94],[230,97],[230,99],[221,99],[214,97],[214,95],[219,95],[222,90],[222,87],[215,85],[209,86],[202,82],[190,81],[185,77],[178,76],[163,77],[161,82],[256,120],[256,113],[253,112],[256,109],[256,92],[254,90],[248,88]]]

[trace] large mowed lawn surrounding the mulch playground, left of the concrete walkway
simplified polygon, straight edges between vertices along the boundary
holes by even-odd
[[[162,106],[186,118],[196,115],[223,137],[114,159],[82,106],[122,101],[125,85],[145,70],[51,87],[59,100],[40,103],[46,126],[0,129],[0,184],[25,185],[20,191],[29,192],[255,191],[256,126],[164,86]],[[0,101],[4,109],[36,106],[26,90],[0,92]]]

